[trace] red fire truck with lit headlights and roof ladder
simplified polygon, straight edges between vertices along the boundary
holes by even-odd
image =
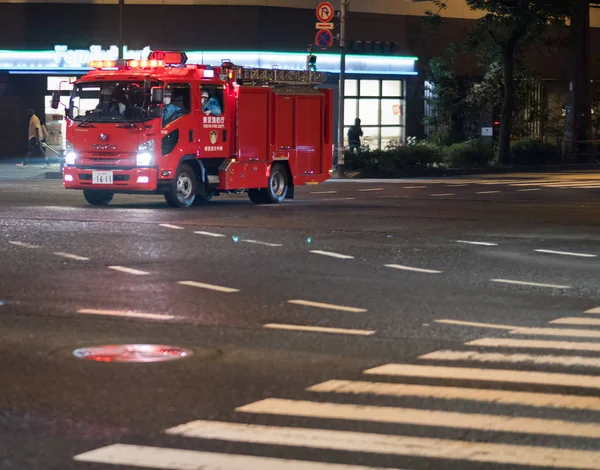
[[[65,188],[93,205],[150,193],[188,207],[233,192],[268,204],[331,176],[332,93],[317,87],[324,74],[186,62],[184,53],[154,51],[90,63],[66,110]]]

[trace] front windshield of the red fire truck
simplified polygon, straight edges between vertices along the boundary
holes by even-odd
[[[73,88],[68,113],[75,121],[144,121],[149,117],[148,105],[143,81],[79,83]]]

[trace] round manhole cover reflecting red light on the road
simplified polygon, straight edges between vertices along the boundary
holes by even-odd
[[[165,362],[192,354],[189,349],[162,344],[108,344],[73,351],[73,356],[79,359],[97,362]]]

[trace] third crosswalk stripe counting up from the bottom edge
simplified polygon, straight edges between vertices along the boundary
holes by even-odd
[[[600,438],[600,424],[391,406],[347,405],[267,398],[236,408],[244,413],[409,424],[490,432]]]

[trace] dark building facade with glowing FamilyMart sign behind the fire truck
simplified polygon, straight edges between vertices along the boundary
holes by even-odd
[[[183,50],[190,62],[304,68],[315,37],[317,0],[125,0],[126,57],[149,49]],[[332,2],[335,8],[339,0]],[[423,25],[431,2],[350,0],[348,77],[344,125],[363,121],[365,143],[385,147],[421,135],[424,72],[430,58],[470,30],[476,13],[450,2],[438,31]],[[0,0],[0,157],[26,151],[26,110],[45,117],[51,143],[60,148],[63,116],[49,107],[52,91],[66,96],[88,60],[116,58],[118,0]],[[6,19],[10,19],[6,21]],[[592,11],[592,74],[600,79],[600,10]],[[337,89],[339,54],[314,49],[317,69],[332,73]],[[531,65],[565,81],[567,51],[532,54]],[[468,70],[472,64],[465,64]]]

